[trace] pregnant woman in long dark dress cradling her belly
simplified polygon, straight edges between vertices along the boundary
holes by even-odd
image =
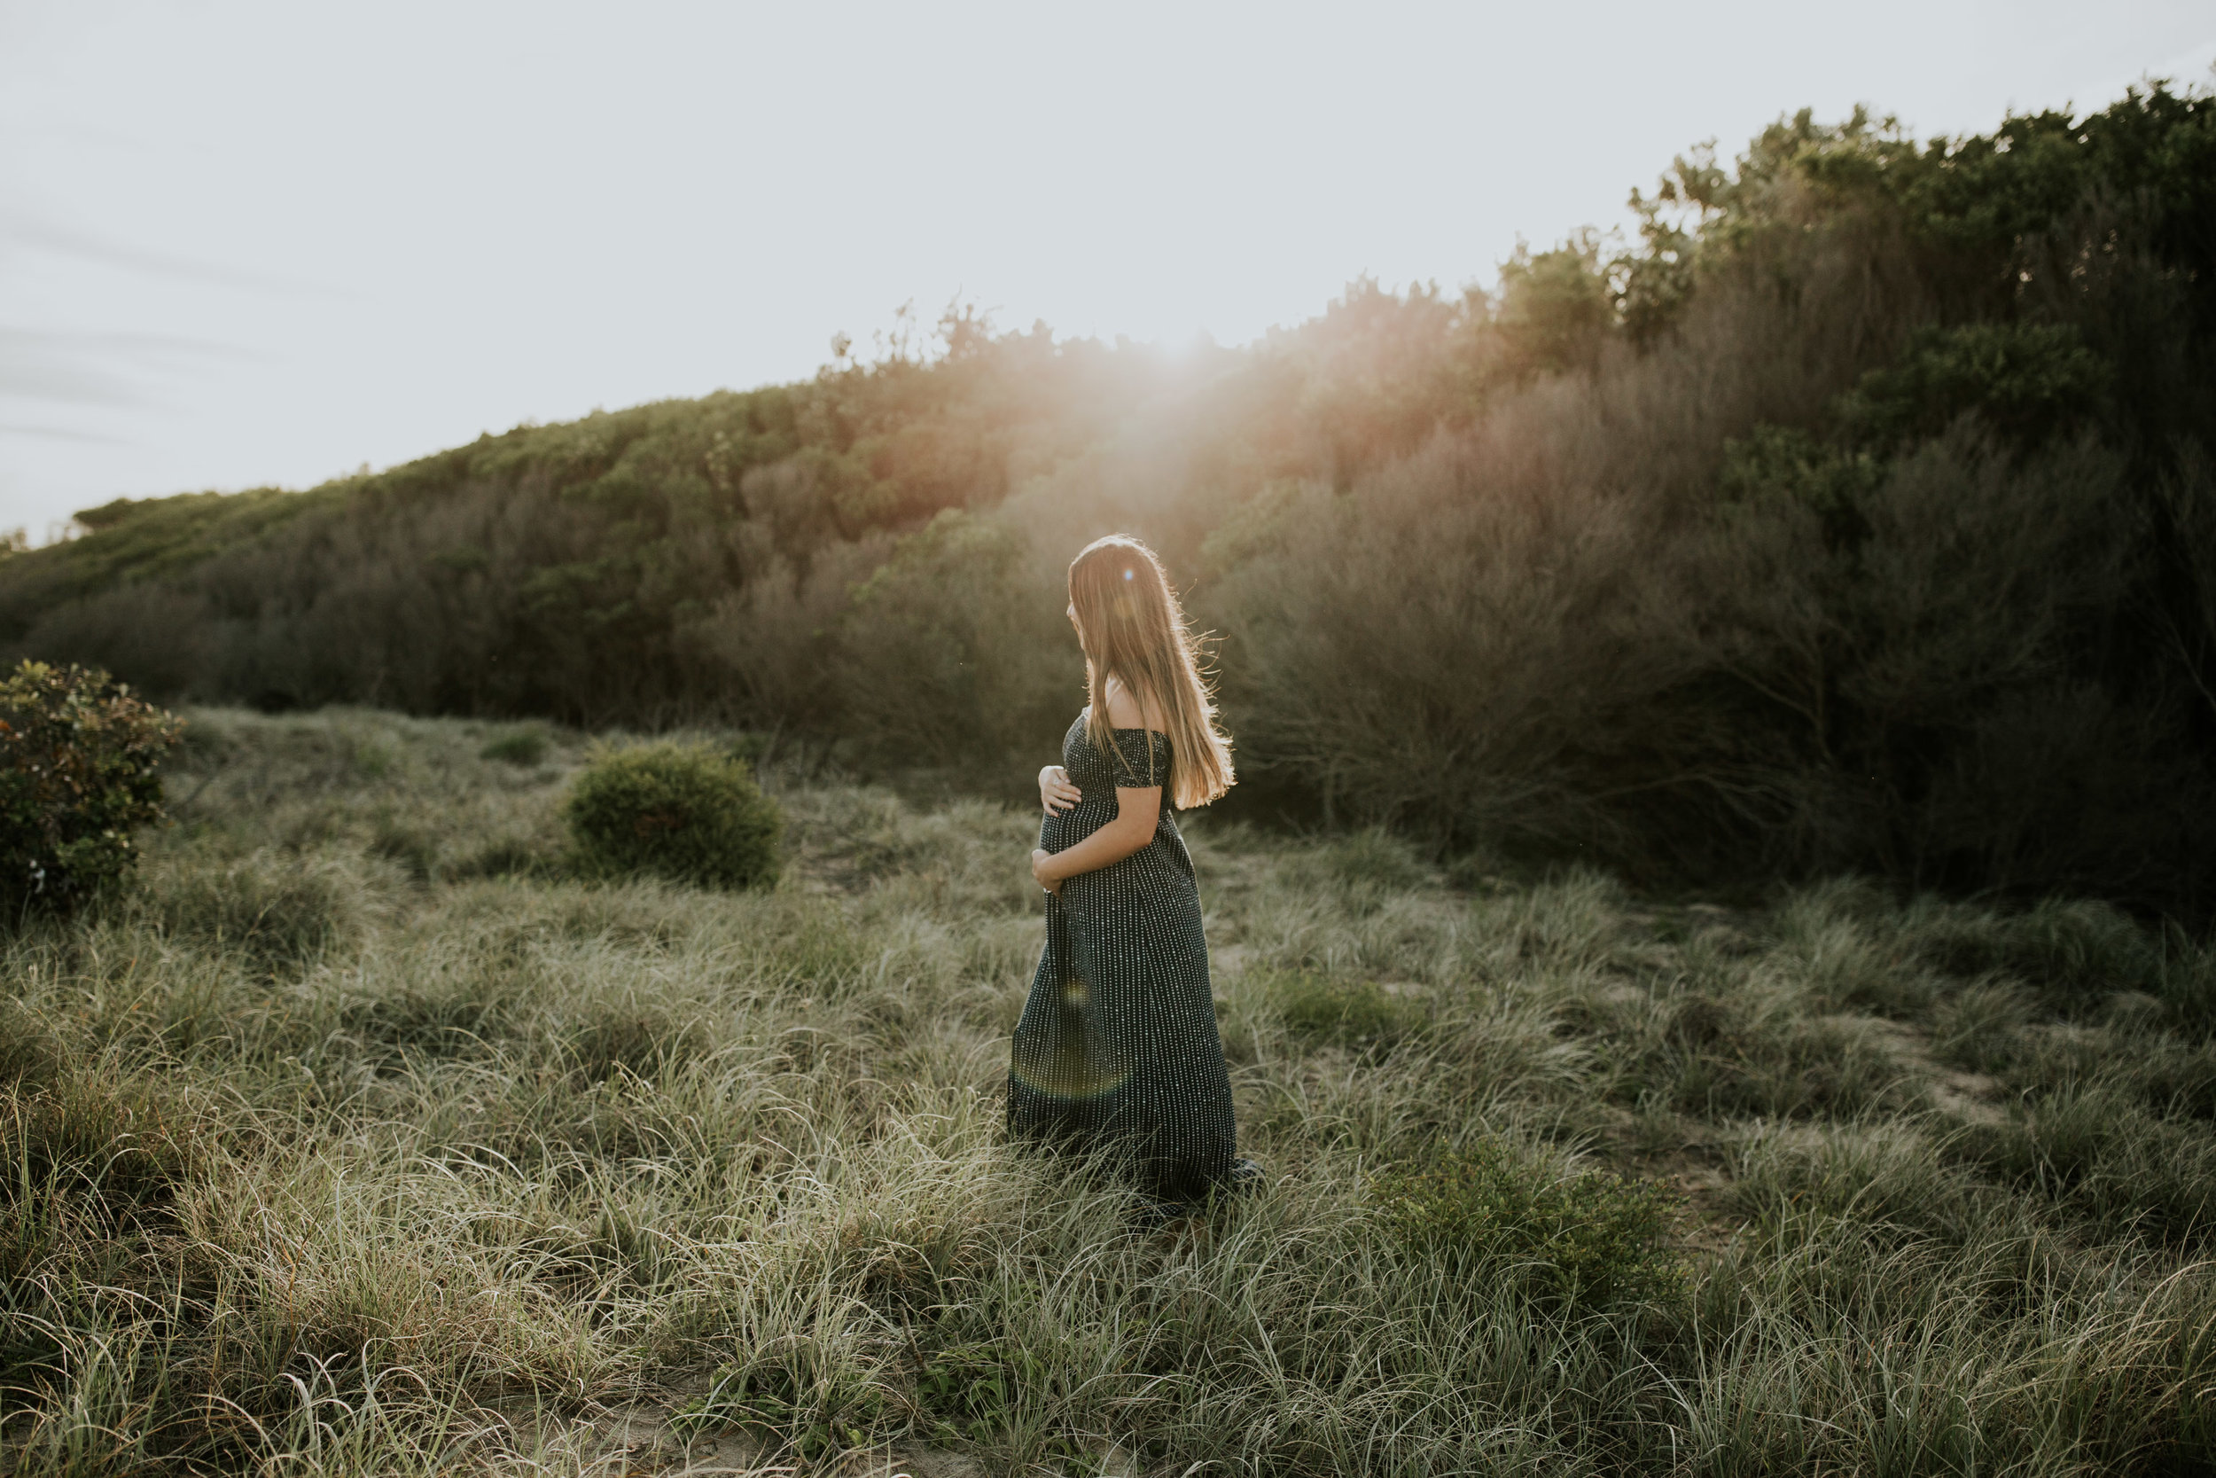
[[[1152,1214],[1259,1177],[1234,1159],[1232,1086],[1177,809],[1232,782],[1186,616],[1152,550],[1110,534],[1070,561],[1090,702],[1039,771],[1030,875],[1046,951],[1015,1028],[1008,1130],[1115,1152]]]

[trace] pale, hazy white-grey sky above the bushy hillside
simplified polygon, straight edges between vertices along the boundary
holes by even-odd
[[[0,530],[804,379],[909,301],[1243,343],[1802,106],[2212,62],[2207,0],[0,0]]]

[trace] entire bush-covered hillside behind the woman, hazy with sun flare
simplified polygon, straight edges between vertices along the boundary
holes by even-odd
[[[1061,563],[1124,527],[1225,638],[1232,807],[2200,922],[2209,179],[2203,93],[1930,144],[1802,113],[1678,160],[1631,253],[1358,281],[1250,350],[957,310],[929,359],[95,510],[0,567],[0,638],[999,780],[1077,702]]]

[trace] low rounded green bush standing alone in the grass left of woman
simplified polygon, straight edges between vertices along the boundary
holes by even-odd
[[[658,873],[711,889],[778,880],[782,813],[742,762],[707,745],[601,751],[563,815],[587,873]]]

